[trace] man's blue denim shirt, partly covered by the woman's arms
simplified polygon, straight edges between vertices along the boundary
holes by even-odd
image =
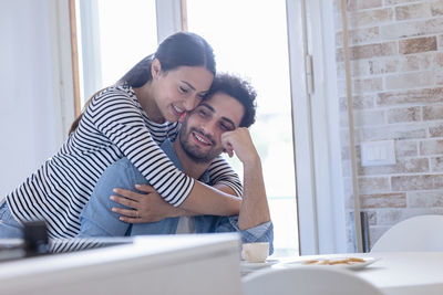
[[[162,149],[174,165],[183,170],[171,140],[165,140]],[[208,183],[208,173],[205,172],[199,180]],[[119,214],[112,212],[111,209],[113,207],[125,208],[110,200],[110,196],[113,194],[112,190],[114,188],[134,190],[135,185],[148,185],[148,182],[127,158],[122,158],[107,167],[80,215],[81,230],[79,238],[175,234],[179,218],[131,224],[120,221]],[[238,229],[238,215],[198,215],[194,217],[194,219],[196,233],[239,232],[243,243],[269,242],[269,253],[274,252],[274,226],[271,222],[241,231]]]

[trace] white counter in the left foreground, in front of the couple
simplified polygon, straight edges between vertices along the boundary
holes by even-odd
[[[169,234],[0,263],[0,294],[241,294],[238,234]]]

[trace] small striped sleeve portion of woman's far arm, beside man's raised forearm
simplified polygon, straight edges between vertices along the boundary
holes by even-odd
[[[223,183],[230,187],[237,196],[243,194],[243,185],[238,175],[234,171],[230,165],[218,156],[213,160],[208,168],[210,183]]]

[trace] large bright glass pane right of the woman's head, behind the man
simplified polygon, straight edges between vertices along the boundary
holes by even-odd
[[[276,254],[297,254],[285,0],[187,0],[187,19],[188,30],[213,45],[217,71],[236,73],[257,91],[257,122],[250,130],[262,160]],[[238,162],[233,166],[240,171]]]

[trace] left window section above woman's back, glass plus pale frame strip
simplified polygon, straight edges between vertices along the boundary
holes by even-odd
[[[78,0],[81,97],[114,84],[157,48],[155,0]]]

